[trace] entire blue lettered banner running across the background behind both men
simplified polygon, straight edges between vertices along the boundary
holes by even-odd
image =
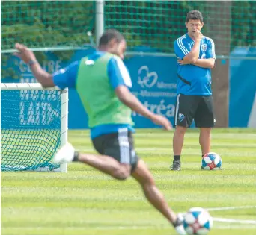
[[[147,48],[147,50],[149,49]],[[76,51],[73,53],[70,60],[67,61],[61,61],[55,54],[46,52],[46,60],[43,60],[41,65],[46,71],[55,72],[75,60],[80,60],[92,51],[94,51],[93,48]],[[256,48],[237,48],[231,55],[244,56],[245,54],[250,57],[256,57]],[[150,109],[153,113],[166,116],[173,124],[177,82],[176,58],[138,55],[128,57],[124,60],[124,63],[127,65],[132,78],[132,93],[145,107]],[[231,59],[230,66],[229,126],[256,127],[256,70],[254,69],[256,60]],[[7,63],[4,65],[1,64],[1,69],[9,68],[12,68],[16,73],[13,76],[16,79],[5,76],[4,79],[1,79],[1,82],[37,82],[29,67],[17,57],[10,56]],[[32,99],[34,97],[33,94],[34,91],[28,92],[28,96]],[[3,111],[3,108],[10,107],[8,103],[3,103],[4,97],[5,96],[1,97],[1,111]],[[43,123],[48,123],[37,121],[38,113],[41,113],[40,119],[43,119],[43,117],[45,117],[42,116],[43,113],[45,113],[44,115],[51,117],[51,112],[57,112],[55,108],[55,100],[46,100],[46,98],[38,96],[36,101],[31,100],[29,103],[24,97],[27,97],[24,96],[24,92],[19,92],[13,100],[13,102],[17,102],[16,107],[19,107],[15,112],[19,115],[19,123],[24,128],[39,128],[39,126],[42,127],[43,125],[46,125]],[[31,109],[34,111],[31,112]],[[48,111],[45,111],[45,109]],[[28,111],[32,113],[31,116],[24,114],[21,121],[20,113],[28,113]],[[133,112],[132,119],[135,122],[135,128],[157,127],[150,122],[150,120],[138,115],[138,113]],[[82,103],[76,90],[69,90],[68,125],[70,129],[88,128],[88,116],[82,107]]]

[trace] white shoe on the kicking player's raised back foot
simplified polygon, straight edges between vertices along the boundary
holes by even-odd
[[[68,142],[61,147],[52,159],[53,163],[69,163],[73,160],[75,148]]]

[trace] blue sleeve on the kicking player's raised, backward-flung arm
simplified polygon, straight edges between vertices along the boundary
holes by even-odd
[[[79,69],[79,61],[71,63],[64,69],[60,69],[53,74],[53,82],[55,86],[61,89],[66,87],[75,88],[76,87],[76,76]]]

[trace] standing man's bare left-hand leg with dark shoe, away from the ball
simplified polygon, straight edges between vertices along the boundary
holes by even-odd
[[[171,170],[173,171],[180,171],[180,155],[183,148],[185,133],[186,128],[178,125],[176,126],[173,138],[174,161],[171,166]]]

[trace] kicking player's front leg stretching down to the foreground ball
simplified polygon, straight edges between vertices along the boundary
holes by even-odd
[[[153,176],[150,171],[147,169],[146,164],[143,160],[138,160],[138,164],[132,172],[132,177],[141,184],[141,188],[143,189],[144,195],[147,200],[174,225],[174,228],[179,234],[185,234],[183,229],[183,217],[177,216],[170,207],[168,207],[167,201],[165,201],[162,192],[156,187],[155,181],[153,180]]]

